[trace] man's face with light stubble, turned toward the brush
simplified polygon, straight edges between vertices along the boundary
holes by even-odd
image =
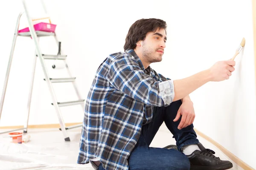
[[[148,32],[145,40],[141,42],[142,57],[145,62],[160,62],[166,47],[165,29],[157,29],[155,32]]]

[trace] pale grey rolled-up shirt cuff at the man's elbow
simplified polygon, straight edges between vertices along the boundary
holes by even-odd
[[[173,80],[167,80],[159,83],[159,90],[164,102],[164,106],[168,106],[174,99],[174,84]]]

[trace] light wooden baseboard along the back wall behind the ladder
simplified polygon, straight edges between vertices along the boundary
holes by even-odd
[[[79,125],[82,122],[77,123],[65,123],[65,126],[73,126],[73,125]],[[60,124],[47,124],[47,125],[29,125],[28,128],[60,128]],[[0,127],[0,129],[19,129],[23,128],[23,126],[3,126]]]

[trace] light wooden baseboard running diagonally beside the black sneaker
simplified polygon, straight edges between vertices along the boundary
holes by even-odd
[[[250,167],[248,164],[246,164],[244,161],[242,161],[241,159],[239,159],[238,157],[236,157],[233,153],[231,153],[230,151],[228,151],[226,148],[224,148],[223,146],[221,146],[220,144],[218,144],[218,142],[214,141],[212,138],[210,138],[209,136],[206,136],[204,133],[198,131],[197,129],[195,129],[195,132],[197,133],[197,135],[203,137],[204,139],[206,139],[207,141],[211,142],[212,144],[214,144],[216,147],[218,147],[221,152],[223,152],[227,157],[229,157],[232,161],[234,161],[237,165],[239,165],[241,168],[243,168],[244,170],[254,170],[252,167]]]

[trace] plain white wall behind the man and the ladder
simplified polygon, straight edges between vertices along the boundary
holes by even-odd
[[[2,90],[17,15],[18,0],[1,2],[0,88]],[[190,94],[194,102],[195,128],[214,139],[251,167],[256,168],[256,97],[250,0],[197,1],[61,1],[46,0],[52,21],[73,75],[84,98],[94,74],[105,57],[123,51],[129,27],[141,18],[167,22],[165,55],[151,65],[157,72],[180,79],[209,68],[218,60],[230,59],[244,37],[244,50],[236,57],[236,71],[224,82],[209,82]],[[32,6],[33,7],[33,6]],[[35,10],[36,9],[36,10]],[[38,11],[38,8],[33,8]],[[22,23],[23,26],[26,23]],[[49,41],[51,41],[49,42]],[[43,45],[45,43],[46,45]],[[44,53],[57,53],[51,38],[42,38]],[[54,47],[54,48],[53,48]],[[29,38],[18,37],[6,91],[0,126],[23,125],[34,47]],[[52,62],[47,63],[51,66]],[[65,77],[50,71],[51,77]],[[58,123],[38,60],[32,95],[30,125]],[[70,85],[55,85],[61,101],[76,99]],[[65,122],[81,122],[79,106],[61,109]]]

